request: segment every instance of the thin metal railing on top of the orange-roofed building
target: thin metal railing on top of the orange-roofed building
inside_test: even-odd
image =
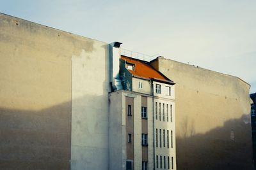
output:
[[[145,60],[147,62],[150,62],[151,60],[154,60],[157,57],[159,57],[159,54],[147,55],[145,53],[132,52],[131,50],[125,50],[124,48],[121,48],[121,55],[125,55],[125,56],[131,57],[133,59]]]

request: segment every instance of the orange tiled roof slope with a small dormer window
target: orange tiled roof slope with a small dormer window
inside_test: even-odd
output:
[[[156,71],[156,69],[154,69],[152,66],[150,66],[146,62],[143,62],[138,59],[132,59],[132,58],[126,57],[124,55],[121,55],[121,59],[126,60],[126,62],[135,65],[134,71],[128,69],[128,71],[134,76],[138,76],[141,78],[147,78],[147,79],[154,78],[156,80],[162,80],[162,81],[172,81],[172,80],[169,80],[168,78],[164,77],[161,73]]]

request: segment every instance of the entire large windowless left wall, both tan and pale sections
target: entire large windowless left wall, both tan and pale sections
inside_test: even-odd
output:
[[[108,85],[106,43],[0,13],[0,169],[108,169]]]

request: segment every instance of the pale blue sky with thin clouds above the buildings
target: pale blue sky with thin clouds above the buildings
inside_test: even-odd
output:
[[[0,12],[238,76],[256,92],[255,0],[0,0]]]

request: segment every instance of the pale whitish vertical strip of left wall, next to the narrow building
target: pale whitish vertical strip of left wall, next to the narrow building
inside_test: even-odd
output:
[[[78,40],[80,51],[72,54],[71,169],[108,169],[109,45]]]

